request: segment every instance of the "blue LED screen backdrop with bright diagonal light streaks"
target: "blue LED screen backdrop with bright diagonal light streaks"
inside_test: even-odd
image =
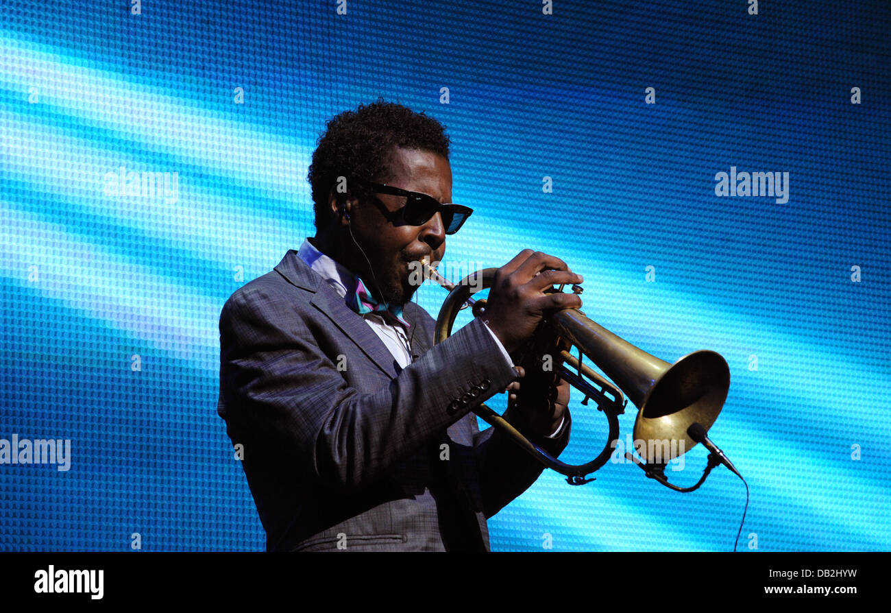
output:
[[[219,311],[314,233],[315,139],[379,96],[452,137],[476,213],[446,262],[547,251],[609,330],[727,359],[711,435],[751,488],[741,551],[891,549],[891,9],[759,4],[5,2],[0,438],[72,451],[68,471],[0,465],[0,549],[264,548],[216,413]],[[717,197],[732,166],[788,172],[788,202]],[[110,193],[120,167],[176,193]],[[435,314],[444,292],[418,298]],[[571,410],[561,457],[586,462],[605,420]],[[728,470],[693,494],[595,476],[546,471],[490,521],[493,550],[732,550]]]

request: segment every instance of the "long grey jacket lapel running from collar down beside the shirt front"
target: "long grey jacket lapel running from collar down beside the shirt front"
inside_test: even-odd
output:
[[[396,377],[395,361],[387,346],[372,331],[368,323],[347,307],[343,298],[300,259],[296,250],[290,249],[278,266],[275,266],[275,270],[292,285],[314,292],[312,305],[356,343],[356,347],[381,371],[386,372],[390,378]]]

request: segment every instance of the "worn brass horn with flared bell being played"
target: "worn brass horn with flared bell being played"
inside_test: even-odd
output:
[[[471,294],[492,287],[495,268],[479,270],[453,285],[429,266],[429,262],[423,262],[422,266],[426,278],[449,290],[437,317],[437,343],[452,333],[455,318],[462,308],[471,307],[474,316],[485,314],[485,298],[475,299]],[[563,286],[556,290],[562,291]],[[573,286],[572,290],[582,292],[579,286]],[[730,368],[720,354],[695,351],[669,364],[594,323],[576,308],[546,317],[536,331],[537,337],[543,335],[544,342],[551,343],[548,346],[555,347],[560,356],[560,376],[582,392],[583,405],[594,400],[608,420],[609,438],[601,453],[584,464],[560,462],[485,404],[478,405],[474,413],[493,428],[501,429],[544,466],[560,472],[570,485],[582,485],[592,481],[593,478],[587,478],[587,475],[599,470],[615,453],[619,437],[618,415],[625,413],[625,406],[631,400],[638,408],[634,439],[638,442],[635,450],[640,459],[630,453],[625,457],[640,466],[647,477],[676,491],[690,492],[702,485],[708,473],[720,463],[716,454],[709,454],[707,468],[699,483],[692,487],[669,483],[665,466],[666,462],[702,440],[697,436],[697,431],[701,430],[697,430],[695,424],[707,430],[721,413],[730,389]],[[570,351],[573,347],[577,356]],[[599,367],[609,380],[584,364],[584,358]]]

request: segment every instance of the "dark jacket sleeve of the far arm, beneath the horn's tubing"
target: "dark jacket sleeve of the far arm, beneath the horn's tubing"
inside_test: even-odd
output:
[[[568,410],[565,415],[560,436],[556,438],[530,435],[522,416],[512,413],[511,409],[504,412],[503,418],[535,445],[557,457],[569,442],[572,419]],[[544,470],[544,464],[522,450],[502,429],[489,428],[479,432],[476,420],[472,422],[473,428],[477,430],[473,437],[473,446],[483,500],[482,511],[486,519],[489,519],[535,483],[535,479]]]

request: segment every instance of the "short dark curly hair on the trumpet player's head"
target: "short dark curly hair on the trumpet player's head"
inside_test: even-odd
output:
[[[307,181],[312,185],[315,227],[322,229],[337,218],[329,206],[331,188],[339,176],[349,192],[361,193],[369,181],[386,183],[392,176],[390,155],[396,147],[432,151],[448,159],[446,127],[421,111],[378,98],[334,116],[313,152]]]

